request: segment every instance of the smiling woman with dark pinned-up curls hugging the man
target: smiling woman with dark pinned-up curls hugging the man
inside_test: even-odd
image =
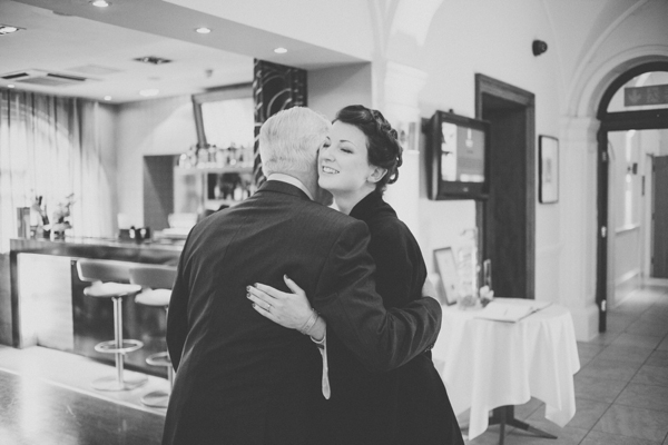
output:
[[[428,275],[418,241],[383,200],[401,164],[396,131],[380,111],[358,105],[338,111],[331,145],[318,157],[320,186],[333,195],[340,211],[369,227],[376,291],[387,308],[420,298]],[[267,318],[298,328],[302,322],[294,323],[294,314],[311,307],[298,286],[288,278],[286,285],[302,298],[289,299],[288,294],[264,285],[252,287],[249,298]],[[284,301],[277,305],[276,299]],[[272,301],[271,316],[262,301]],[[323,444],[463,444],[430,352],[394,370],[374,374],[327,329],[326,355],[331,398],[323,418]]]

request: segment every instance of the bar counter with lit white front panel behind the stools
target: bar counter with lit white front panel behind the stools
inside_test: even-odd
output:
[[[112,355],[94,349],[95,344],[114,339],[111,301],[84,295],[90,284],[79,279],[77,260],[92,258],[176,267],[181,250],[183,241],[11,239],[12,346],[39,345],[112,364]],[[124,337],[144,342],[141,349],[127,355],[127,367],[165,376],[165,368],[145,363],[148,355],[166,349],[165,312],[136,305],[130,297],[124,299],[122,315]]]

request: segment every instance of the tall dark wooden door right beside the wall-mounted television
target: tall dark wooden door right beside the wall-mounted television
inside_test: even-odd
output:
[[[536,155],[533,95],[477,75],[477,117],[490,122],[490,192],[479,201],[481,258],[492,264],[494,296],[533,299]]]

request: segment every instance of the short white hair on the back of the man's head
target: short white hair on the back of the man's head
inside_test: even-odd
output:
[[[265,176],[314,168],[316,148],[332,123],[322,115],[293,107],[268,118],[259,129],[259,156]]]

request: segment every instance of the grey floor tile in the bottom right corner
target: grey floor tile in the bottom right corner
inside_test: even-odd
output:
[[[593,429],[660,442],[668,434],[668,413],[612,405]]]

